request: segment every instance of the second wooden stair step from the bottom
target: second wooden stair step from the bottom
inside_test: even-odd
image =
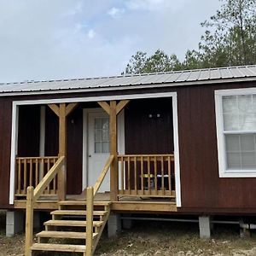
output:
[[[70,232],[70,231],[42,231],[38,233],[38,237],[48,238],[71,238],[71,239],[85,239],[85,232]],[[93,233],[93,238],[97,236],[97,233]]]

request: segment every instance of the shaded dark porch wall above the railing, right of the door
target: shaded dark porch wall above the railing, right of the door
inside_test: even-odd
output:
[[[131,101],[125,108],[125,154],[172,154],[172,127],[172,98]]]

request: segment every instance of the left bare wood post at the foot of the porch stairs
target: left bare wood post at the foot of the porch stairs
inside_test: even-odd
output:
[[[25,238],[25,255],[32,255],[31,247],[33,241],[33,200],[34,188],[26,189],[26,238]]]

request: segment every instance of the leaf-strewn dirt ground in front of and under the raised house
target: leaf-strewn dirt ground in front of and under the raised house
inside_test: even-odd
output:
[[[5,213],[0,212],[0,255],[23,255],[24,234],[5,237]],[[108,239],[104,233],[96,255],[256,255],[256,232],[249,238],[240,238],[237,226],[215,225],[212,239],[199,238],[198,224],[134,222],[131,230],[122,231],[118,237]],[[41,255],[71,255],[67,253],[42,253]],[[79,254],[78,254],[79,255]]]

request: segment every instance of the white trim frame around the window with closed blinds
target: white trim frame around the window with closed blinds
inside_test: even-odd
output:
[[[215,114],[218,145],[218,174],[219,177],[256,177],[255,170],[226,170],[226,154],[224,144],[223,96],[240,96],[256,94],[256,88],[215,90]],[[238,131],[239,132],[239,131]],[[228,132],[226,132],[228,133]],[[245,131],[244,133],[248,133]],[[252,133],[252,131],[250,132]]]

